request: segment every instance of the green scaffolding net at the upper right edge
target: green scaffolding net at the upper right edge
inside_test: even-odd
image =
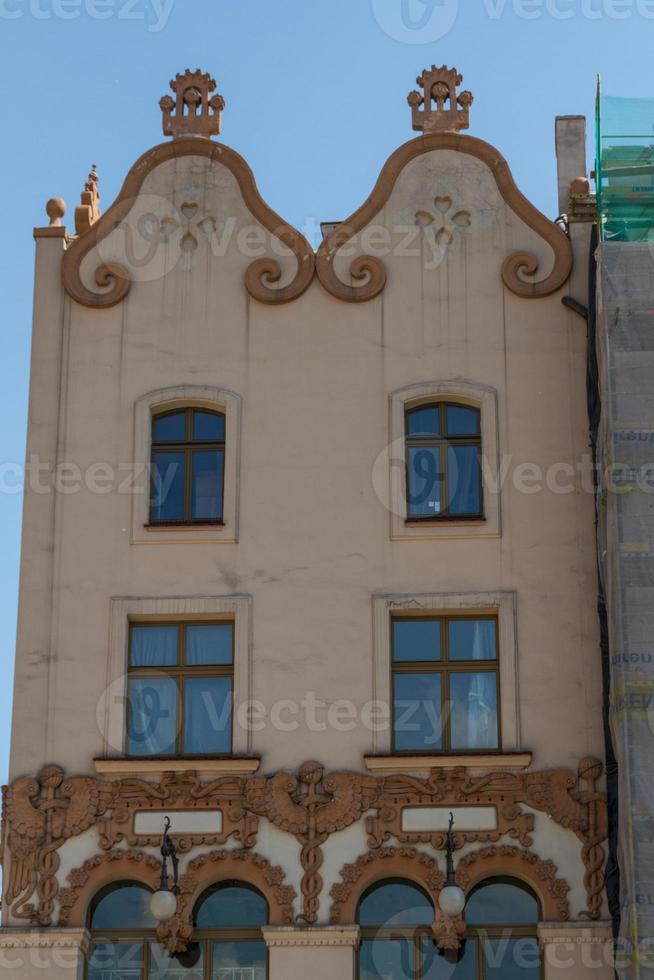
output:
[[[597,90],[597,206],[603,241],[654,241],[654,99]]]

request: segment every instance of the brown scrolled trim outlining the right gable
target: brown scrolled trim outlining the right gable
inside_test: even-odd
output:
[[[397,149],[388,159],[365,204],[335,228],[318,249],[316,271],[325,289],[332,296],[348,303],[365,302],[382,292],[386,285],[386,269],[380,259],[370,255],[359,255],[354,259],[350,266],[350,275],[354,280],[352,285],[338,278],[334,271],[334,259],[339,249],[369,224],[386,205],[398,177],[407,164],[432,150],[455,150],[458,153],[467,153],[485,163],[491,170],[498,190],[509,207],[540,235],[554,252],[552,271],[545,279],[538,282],[523,278],[534,276],[538,272],[538,260],[535,255],[530,252],[514,252],[509,255],[502,265],[502,279],[505,286],[516,296],[524,299],[538,299],[560,289],[572,270],[572,248],[567,237],[518,190],[509,165],[494,147],[473,136],[460,136],[454,133],[422,136],[411,140]]]

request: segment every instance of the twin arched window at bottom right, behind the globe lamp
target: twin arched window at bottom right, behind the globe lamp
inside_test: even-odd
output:
[[[483,882],[468,898],[461,961],[433,939],[434,909],[416,885],[382,882],[359,904],[358,980],[540,980],[538,901],[521,882]]]

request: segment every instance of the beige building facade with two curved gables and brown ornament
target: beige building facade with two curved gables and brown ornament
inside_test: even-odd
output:
[[[106,213],[95,172],[74,234],[48,203],[4,793],[21,980],[613,976],[592,221],[461,134],[461,81],[420,76],[420,135],[317,251],[215,139],[199,71]],[[557,121],[562,211],[584,139]]]

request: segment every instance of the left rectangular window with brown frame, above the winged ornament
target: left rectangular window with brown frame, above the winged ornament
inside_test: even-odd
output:
[[[234,624],[132,623],[127,751],[229,755]]]

